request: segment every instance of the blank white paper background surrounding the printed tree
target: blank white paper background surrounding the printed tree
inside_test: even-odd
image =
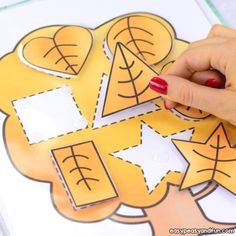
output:
[[[80,24],[94,28],[115,16],[137,11],[165,17],[173,24],[177,36],[187,41],[205,37],[211,27],[205,13],[194,0],[182,0],[181,4],[173,0],[136,0],[135,3],[127,0],[44,0],[0,13],[0,57],[13,50],[24,35],[36,28],[53,24]],[[4,118],[1,114],[1,128]],[[105,220],[82,224],[63,218],[52,205],[49,185],[29,180],[16,171],[2,139],[0,157],[0,189],[13,235],[110,236],[111,232],[112,236],[152,235],[147,223],[124,225]],[[220,211],[216,212],[215,204],[220,204]],[[235,211],[228,212],[230,206],[235,206],[235,197],[226,193],[226,190],[218,189],[217,193],[204,199],[202,206],[211,218],[217,213],[217,220],[236,219]]]

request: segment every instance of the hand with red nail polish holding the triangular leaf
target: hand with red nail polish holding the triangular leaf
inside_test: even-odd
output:
[[[163,94],[167,109],[180,103],[236,125],[236,30],[215,25],[150,87]]]

